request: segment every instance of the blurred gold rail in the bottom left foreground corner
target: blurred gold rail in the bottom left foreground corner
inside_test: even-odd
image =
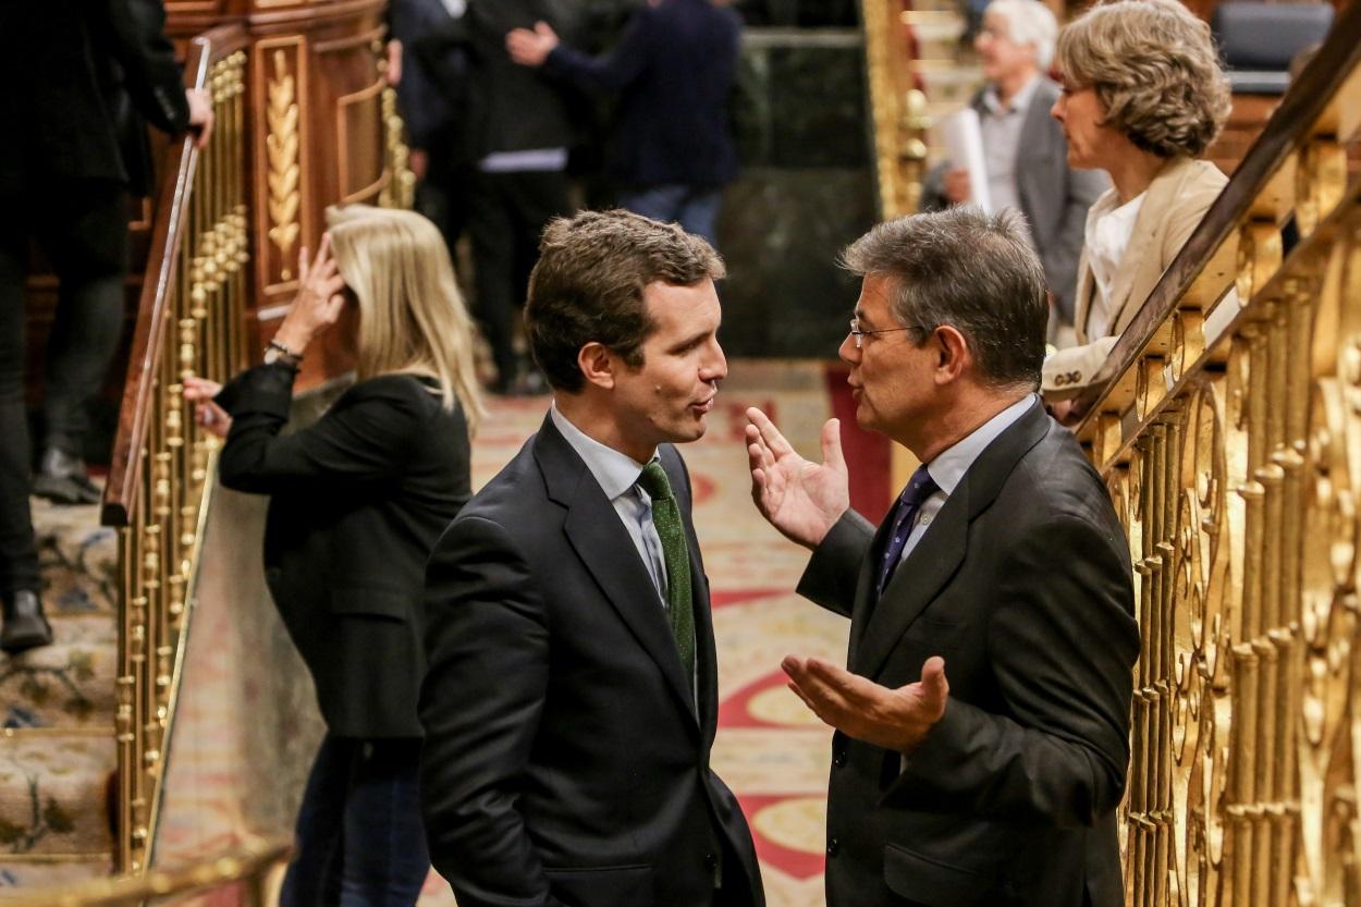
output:
[[[233,903],[248,907],[269,904],[268,887],[275,870],[289,859],[291,842],[259,842],[210,862],[173,872],[99,878],[34,895],[5,899],[5,907],[142,907],[146,903],[180,903],[197,892],[242,885],[245,897]]]

